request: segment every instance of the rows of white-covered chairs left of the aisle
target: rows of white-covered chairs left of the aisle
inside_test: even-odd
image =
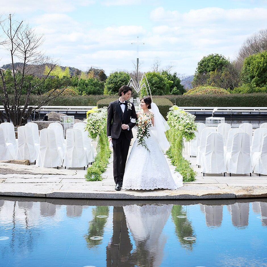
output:
[[[40,131],[36,123],[18,127],[18,139],[14,126],[0,124],[0,159],[29,159],[42,167],[82,167],[94,161],[94,147],[85,124],[76,123],[74,129],[66,131],[64,139],[62,125],[53,122]]]

